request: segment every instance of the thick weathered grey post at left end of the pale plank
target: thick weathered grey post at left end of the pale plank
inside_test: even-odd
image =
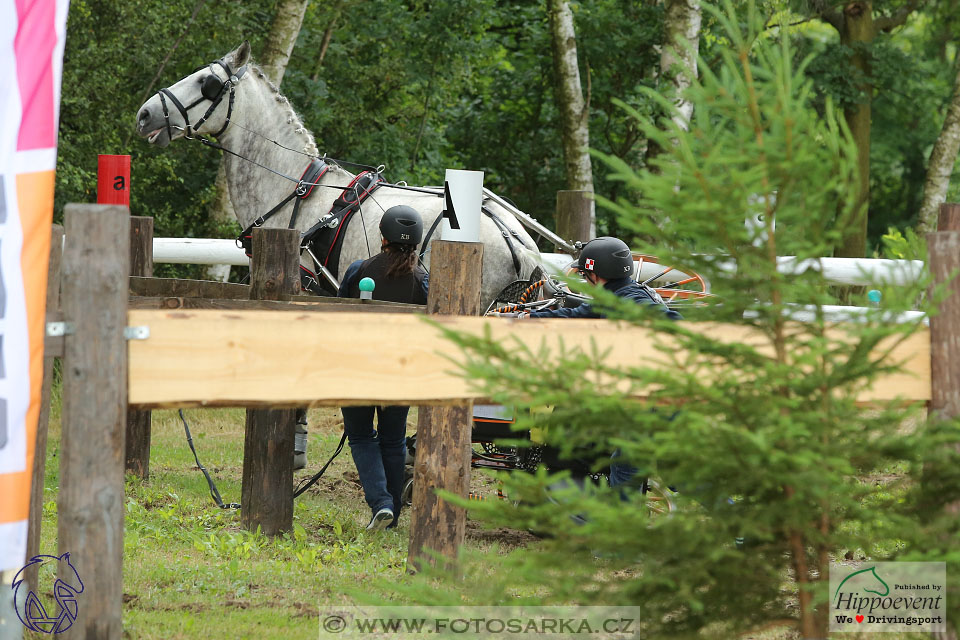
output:
[[[84,591],[64,636],[119,640],[130,213],[119,205],[68,204],[65,223],[63,315],[74,332],[64,341],[58,536],[59,553],[70,554]]]

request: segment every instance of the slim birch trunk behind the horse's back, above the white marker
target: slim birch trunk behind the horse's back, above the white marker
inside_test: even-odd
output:
[[[567,189],[593,192],[590,164],[590,108],[580,87],[577,36],[567,0],[548,0],[550,40],[553,48],[554,93],[560,110],[563,164]],[[597,234],[596,210],[591,201],[590,236]]]

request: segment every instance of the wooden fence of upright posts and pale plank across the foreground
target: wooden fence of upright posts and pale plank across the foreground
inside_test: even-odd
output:
[[[960,220],[954,209],[944,211],[942,220]],[[489,330],[497,339],[527,345],[562,343],[568,350],[593,343],[601,350],[615,347],[611,365],[649,363],[658,353],[652,345],[660,338],[610,321],[516,322],[448,315],[431,324],[411,315],[410,306],[298,296],[295,232],[288,230],[255,232],[258,262],[249,287],[161,283],[148,277],[143,249],[150,246],[148,225],[133,221],[131,254],[131,218],[125,207],[68,205],[71,242],[62,263],[62,314],[55,295],[49,304],[49,318],[65,321],[66,333],[48,342],[48,355],[64,358],[59,545],[61,552],[72,553],[75,566],[84,568],[87,587],[68,637],[121,637],[123,473],[125,466],[142,475],[149,469],[149,426],[129,426],[138,412],[142,421],[143,412],[157,407],[248,407],[243,522],[277,532],[289,528],[292,513],[293,412],[284,408],[450,407],[437,411],[430,437],[453,445],[447,449],[463,456],[421,456],[418,451],[415,486],[419,481],[422,493],[421,502],[415,502],[418,519],[411,523],[411,545],[455,553],[462,540],[462,512],[440,517],[436,505],[423,501],[434,487],[466,491],[469,407],[480,393],[455,372],[463,356],[442,337],[440,326],[476,334]],[[960,267],[960,226],[948,228],[929,238],[931,270],[940,281]],[[458,287],[479,289],[478,283],[463,284],[479,277],[478,269],[471,276],[470,268],[463,268],[479,264],[478,256],[468,255],[471,250],[448,248],[449,256],[437,260],[434,248],[430,311],[476,313],[471,301],[451,293]],[[52,286],[56,263],[51,260]],[[131,265],[140,276],[128,278]],[[960,413],[960,341],[951,339],[960,335],[960,285],[954,280],[951,287],[954,295],[930,330],[920,330],[898,347],[895,357],[906,363],[903,373],[881,377],[859,400],[899,397]],[[696,326],[732,342],[762,343],[742,327]],[[319,376],[324,363],[331,374]],[[261,411],[269,413],[257,413]],[[38,428],[33,487],[41,496],[45,438],[44,421]],[[259,488],[248,490],[248,484]],[[431,511],[430,526],[417,510]],[[31,511],[34,546],[29,553],[37,552],[39,522],[38,507]]]

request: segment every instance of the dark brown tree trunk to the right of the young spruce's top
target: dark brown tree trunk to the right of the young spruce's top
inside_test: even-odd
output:
[[[851,47],[850,64],[862,74],[863,83],[858,87],[863,93],[863,102],[844,110],[844,119],[850,135],[857,145],[857,168],[860,187],[851,218],[845,221],[846,229],[836,249],[841,258],[862,258],[867,249],[867,212],[870,208],[870,102],[873,85],[870,82],[870,60],[867,47],[873,42],[877,31],[873,23],[873,6],[869,0],[849,2],[843,9],[843,24],[840,43]]]

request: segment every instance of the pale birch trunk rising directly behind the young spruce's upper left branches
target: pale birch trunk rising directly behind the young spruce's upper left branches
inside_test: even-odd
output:
[[[674,123],[686,130],[693,117],[693,103],[683,97],[697,77],[700,49],[700,0],[666,0],[663,45],[660,49],[661,87],[669,91],[678,114]]]

